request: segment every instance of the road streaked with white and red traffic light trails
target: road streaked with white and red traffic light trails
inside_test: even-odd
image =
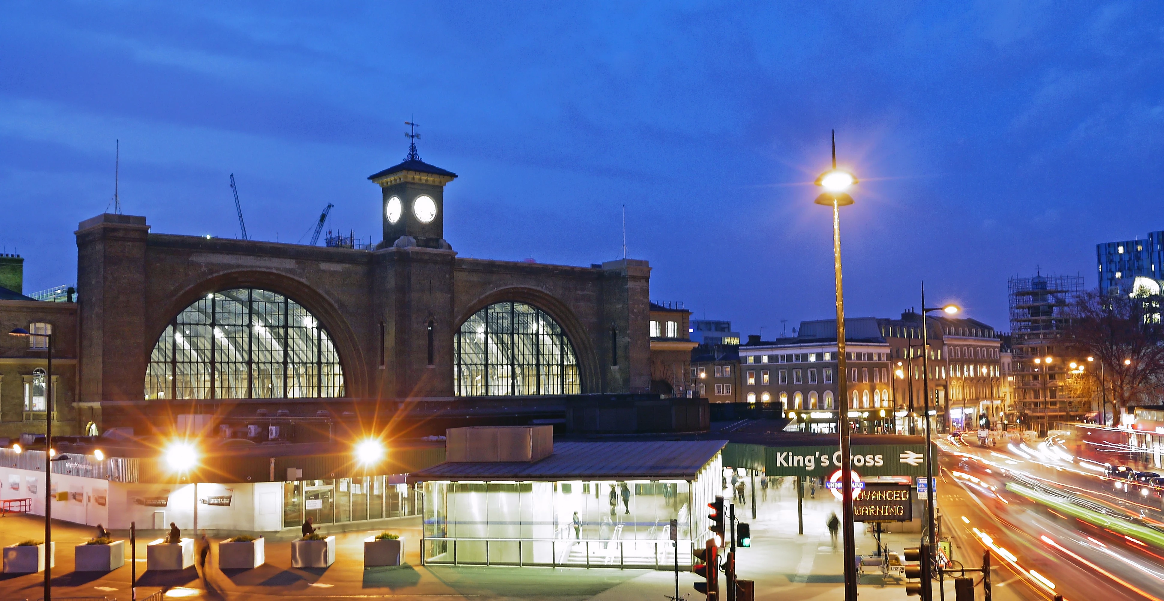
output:
[[[1124,531],[1164,526],[1152,503],[1158,500],[1117,493],[1100,466],[1053,445],[981,447],[965,440],[938,444],[941,535],[964,550],[991,547],[1001,564],[995,586],[1003,582],[1022,599],[1164,601],[1164,549]],[[1065,504],[1049,507],[1018,493]]]

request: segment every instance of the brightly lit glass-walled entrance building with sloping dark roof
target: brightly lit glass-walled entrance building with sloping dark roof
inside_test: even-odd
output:
[[[421,561],[450,565],[691,565],[710,537],[723,440],[558,443],[531,462],[447,461],[424,490]],[[677,557],[670,521],[677,532]]]

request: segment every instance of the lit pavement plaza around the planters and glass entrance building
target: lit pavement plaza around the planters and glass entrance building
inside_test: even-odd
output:
[[[737,515],[752,524],[752,546],[737,553],[739,578],[755,581],[758,600],[840,599],[843,585],[842,552],[833,547],[825,522],[840,503],[830,493],[818,490],[816,499],[804,501],[804,533],[797,533],[796,499],[790,479],[783,487],[768,492],[760,501],[757,518],[751,505],[737,507]],[[725,495],[728,496],[728,495]],[[758,495],[759,496],[759,495]],[[0,545],[28,538],[42,538],[43,521],[37,517],[9,516],[0,519]],[[675,594],[676,574],[669,571],[617,568],[548,568],[548,567],[470,567],[421,566],[419,561],[419,517],[399,518],[388,531],[405,539],[405,566],[364,570],[361,560],[363,539],[375,531],[335,533],[336,561],[328,568],[291,567],[290,542],[268,540],[267,564],[255,570],[223,572],[214,567],[211,554],[205,571],[190,568],[176,573],[144,572],[146,543],[157,538],[142,532],[137,542],[137,599],[163,592],[166,599],[561,599],[624,601],[658,599]],[[326,528],[325,533],[328,533]],[[40,536],[38,536],[40,535]],[[126,538],[127,532],[114,532]],[[97,598],[128,600],[129,561],[111,573],[73,571],[71,546],[93,536],[88,526],[54,522],[57,563],[54,568],[54,596],[63,599]],[[914,546],[917,533],[886,533],[882,540],[890,550]],[[870,530],[858,524],[858,554],[871,554],[875,542]],[[217,543],[217,539],[214,540]],[[954,550],[956,557],[960,551]],[[967,557],[981,550],[971,549]],[[128,554],[128,553],[127,553]],[[966,560],[967,564],[972,563]],[[691,587],[695,575],[677,574],[681,598],[700,598]],[[43,573],[3,574],[0,598],[10,600],[41,599]],[[721,589],[723,579],[721,577]],[[906,598],[902,582],[883,581],[879,575],[864,577],[859,585],[863,601]],[[947,594],[953,599],[952,584]],[[999,598],[999,595],[995,595]],[[1002,596],[1001,599],[1007,599]]]

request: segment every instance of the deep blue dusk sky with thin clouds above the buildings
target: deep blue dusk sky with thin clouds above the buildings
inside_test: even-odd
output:
[[[934,302],[1008,330],[1008,275],[1081,274],[1164,229],[1157,2],[8,3],[0,246],[76,278],[77,222],[379,235],[365,178],[460,175],[464,256],[648,260],[652,297],[765,338],[832,314],[837,129],[850,316]],[[305,235],[306,234],[306,235]]]

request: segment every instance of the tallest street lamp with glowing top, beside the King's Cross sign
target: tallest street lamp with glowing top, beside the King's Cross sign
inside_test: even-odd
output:
[[[853,204],[853,197],[845,191],[857,184],[857,177],[849,171],[837,169],[837,134],[832,134],[832,169],[816,178],[816,185],[825,191],[816,197],[815,203],[832,207],[832,270],[837,294],[837,430],[840,432],[840,508],[844,515],[844,561],[845,561],[845,601],[857,601],[857,545],[853,538],[853,466],[849,446],[849,368],[845,361],[845,297],[840,278],[840,207]]]

